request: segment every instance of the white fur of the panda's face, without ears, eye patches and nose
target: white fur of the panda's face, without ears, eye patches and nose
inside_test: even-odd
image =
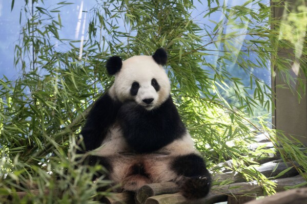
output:
[[[155,78],[160,85],[160,90],[156,92],[151,85],[151,80]],[[131,96],[130,88],[133,82],[139,83],[136,96]],[[153,109],[160,106],[170,94],[170,81],[161,65],[158,65],[152,56],[133,56],[122,62],[122,67],[115,74],[114,92],[119,101],[125,102],[133,100],[140,105],[146,106],[143,99],[153,98],[152,106],[146,107]],[[113,90],[114,89],[114,90]]]

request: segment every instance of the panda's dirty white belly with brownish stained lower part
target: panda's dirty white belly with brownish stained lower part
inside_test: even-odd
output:
[[[97,155],[108,157],[111,162],[109,178],[124,191],[137,191],[146,184],[181,180],[182,176],[172,170],[173,161],[177,156],[196,153],[189,133],[156,152],[135,153],[128,147],[118,126],[112,128],[98,149]]]

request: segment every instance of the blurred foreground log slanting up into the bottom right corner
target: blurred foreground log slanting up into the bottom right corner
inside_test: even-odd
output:
[[[245,204],[307,204],[307,188],[292,189]]]

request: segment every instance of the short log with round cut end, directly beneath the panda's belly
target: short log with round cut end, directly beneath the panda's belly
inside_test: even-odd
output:
[[[141,187],[135,194],[136,203],[145,203],[147,198],[161,195],[177,193],[179,191],[178,185],[173,182],[148,184]]]

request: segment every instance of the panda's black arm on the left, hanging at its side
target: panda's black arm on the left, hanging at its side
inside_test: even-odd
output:
[[[86,151],[96,149],[101,145],[108,129],[116,120],[120,105],[119,101],[112,100],[109,93],[105,93],[96,101],[80,132],[84,138]]]

